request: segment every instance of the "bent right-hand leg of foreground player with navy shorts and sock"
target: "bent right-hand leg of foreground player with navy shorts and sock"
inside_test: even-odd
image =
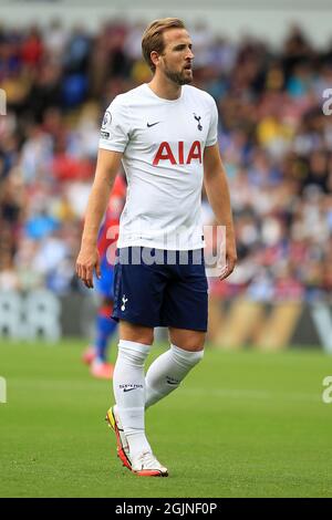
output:
[[[168,325],[170,347],[149,366],[146,378],[148,408],[175,391],[204,355],[207,330],[207,280],[204,258],[174,268],[175,282],[165,293],[163,318]]]

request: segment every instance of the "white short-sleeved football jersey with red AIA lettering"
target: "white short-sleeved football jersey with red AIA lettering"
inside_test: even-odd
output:
[[[158,97],[147,84],[114,98],[100,147],[123,153],[128,185],[118,248],[204,247],[203,154],[217,143],[217,125],[215,100],[194,86],[184,85],[174,101]]]

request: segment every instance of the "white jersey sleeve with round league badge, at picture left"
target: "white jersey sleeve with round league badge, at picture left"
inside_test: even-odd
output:
[[[100,148],[124,152],[129,138],[127,106],[115,97],[105,112],[100,138]]]

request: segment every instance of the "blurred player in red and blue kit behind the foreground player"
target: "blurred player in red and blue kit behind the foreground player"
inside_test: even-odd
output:
[[[90,365],[94,377],[110,379],[114,366],[107,362],[107,346],[116,331],[117,324],[112,320],[113,312],[113,277],[115,246],[118,237],[118,220],[124,206],[126,184],[122,175],[117,175],[104,222],[101,227],[97,249],[101,259],[101,278],[95,277],[95,290],[101,300],[95,322],[94,344],[83,353],[83,362]]]

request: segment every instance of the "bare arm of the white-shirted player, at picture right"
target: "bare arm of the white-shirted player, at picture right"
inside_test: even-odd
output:
[[[217,223],[226,227],[227,266],[220,275],[222,280],[234,271],[237,250],[228,183],[217,143],[214,146],[207,146],[204,150],[204,184]]]

